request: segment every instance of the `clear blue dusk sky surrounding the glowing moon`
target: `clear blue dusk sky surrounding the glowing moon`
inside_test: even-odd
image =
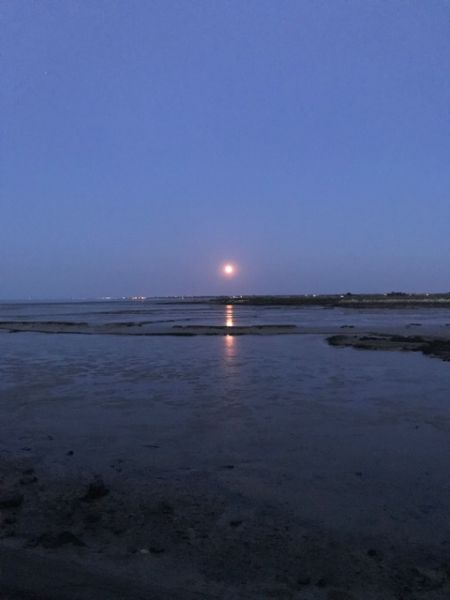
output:
[[[2,0],[0,298],[449,291],[449,27],[448,0]]]

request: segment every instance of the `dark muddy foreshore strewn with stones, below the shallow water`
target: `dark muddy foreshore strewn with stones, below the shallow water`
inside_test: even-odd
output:
[[[344,535],[233,490],[238,470],[53,479],[32,458],[2,458],[1,597],[449,597],[447,539]]]

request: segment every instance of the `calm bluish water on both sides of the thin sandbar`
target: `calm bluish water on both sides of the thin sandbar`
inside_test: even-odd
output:
[[[0,318],[192,324],[450,322],[444,310],[9,304]],[[450,503],[450,365],[323,336],[0,334],[0,450],[49,472],[216,473],[327,526],[440,539]],[[51,441],[49,441],[49,436]],[[149,452],[149,446],[157,447]],[[73,459],[66,451],[75,449]],[[357,473],[358,475],[355,475]],[[362,474],[362,475],[361,475]],[[301,501],[300,501],[301,499]],[[299,508],[300,507],[300,508]],[[432,507],[432,510],[424,507]]]

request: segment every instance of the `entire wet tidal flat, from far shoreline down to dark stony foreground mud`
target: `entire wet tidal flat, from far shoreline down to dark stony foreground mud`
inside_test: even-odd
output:
[[[5,308],[4,597],[447,598],[448,363],[352,346],[450,318],[387,312]]]

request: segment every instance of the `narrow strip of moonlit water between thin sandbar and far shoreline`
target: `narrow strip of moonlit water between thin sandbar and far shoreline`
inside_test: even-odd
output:
[[[389,326],[450,324],[448,309],[328,309],[319,307],[254,307],[181,303],[170,300],[0,303],[0,320],[83,321],[90,324],[154,322],[192,325]]]

